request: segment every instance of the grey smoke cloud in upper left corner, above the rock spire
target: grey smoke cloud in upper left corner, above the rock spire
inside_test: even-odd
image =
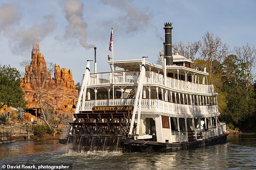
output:
[[[31,49],[32,40],[35,37],[42,40],[56,27],[54,18],[47,15],[44,16],[44,22],[34,24],[28,29],[22,28],[19,25],[22,18],[20,8],[18,4],[2,4],[0,7],[0,29],[8,39],[9,47],[15,55],[23,55]]]

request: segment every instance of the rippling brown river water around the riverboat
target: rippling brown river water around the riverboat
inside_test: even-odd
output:
[[[0,164],[73,164],[73,170],[256,169],[256,131],[229,135],[228,142],[169,153],[65,153],[58,140],[0,145]]]

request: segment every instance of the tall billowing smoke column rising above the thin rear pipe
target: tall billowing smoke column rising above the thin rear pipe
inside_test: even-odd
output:
[[[87,23],[84,22],[84,4],[79,0],[67,0],[64,6],[65,18],[68,25],[65,28],[63,37],[55,37],[57,40],[78,39],[80,45],[86,49],[93,48],[94,45],[88,44],[87,39]]]

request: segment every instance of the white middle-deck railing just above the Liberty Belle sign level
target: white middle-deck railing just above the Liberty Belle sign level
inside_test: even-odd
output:
[[[118,98],[105,100],[87,100],[85,101],[84,109],[91,111],[94,106],[127,106],[134,105],[134,98]],[[82,110],[80,104],[79,110]],[[147,113],[162,113],[164,115],[184,117],[184,116],[209,116],[218,115],[218,105],[189,105],[171,103],[159,99],[142,99],[141,111]]]

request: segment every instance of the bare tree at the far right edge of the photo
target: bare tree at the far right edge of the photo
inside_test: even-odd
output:
[[[256,48],[255,46],[243,45],[241,47],[235,46],[234,51],[237,55],[237,58],[241,62],[240,64],[243,66],[243,74],[242,79],[244,82],[244,86],[248,91],[249,86],[254,83],[254,79],[256,77],[255,74],[255,63],[256,63]]]

